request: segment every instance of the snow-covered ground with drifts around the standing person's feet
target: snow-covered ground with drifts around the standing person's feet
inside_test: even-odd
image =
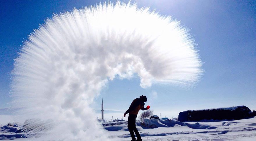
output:
[[[244,120],[220,122],[177,122],[173,120],[145,120],[144,124],[137,122],[138,130],[144,141],[254,141],[256,140],[256,117]],[[127,124],[102,127],[110,138],[116,140],[131,140]],[[5,133],[4,133],[5,132]],[[6,133],[0,130],[0,140],[4,136],[15,137],[23,133]],[[19,138],[17,141],[34,140],[34,138]]]

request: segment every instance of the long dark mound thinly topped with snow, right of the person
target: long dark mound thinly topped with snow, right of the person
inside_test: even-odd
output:
[[[179,113],[179,121],[219,121],[219,120],[239,120],[253,118],[255,111],[251,111],[246,106],[236,106],[228,108],[189,110]]]

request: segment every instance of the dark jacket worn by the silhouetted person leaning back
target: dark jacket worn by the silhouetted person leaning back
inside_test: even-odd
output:
[[[141,110],[146,110],[147,108],[144,108],[145,103],[143,102],[142,99],[136,98],[131,102],[131,106],[129,109],[126,111],[126,113],[132,114],[132,115],[137,115],[138,112]]]

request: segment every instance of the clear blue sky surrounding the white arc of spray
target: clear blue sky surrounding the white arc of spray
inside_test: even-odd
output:
[[[114,1],[113,1],[114,2]],[[0,2],[0,108],[9,107],[10,71],[22,42],[53,13],[99,3],[99,0],[2,0]],[[127,110],[131,101],[146,95],[156,114],[246,105],[256,110],[256,1],[139,0],[163,15],[173,15],[191,29],[198,43],[205,73],[193,89],[153,85],[139,87],[139,79],[108,84],[93,108]]]

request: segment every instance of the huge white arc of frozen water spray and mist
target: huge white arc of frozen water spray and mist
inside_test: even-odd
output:
[[[117,75],[136,74],[146,88],[192,86],[202,73],[195,41],[179,21],[120,2],[47,19],[14,66],[11,93],[22,116],[52,121],[38,140],[108,140],[90,104]]]

